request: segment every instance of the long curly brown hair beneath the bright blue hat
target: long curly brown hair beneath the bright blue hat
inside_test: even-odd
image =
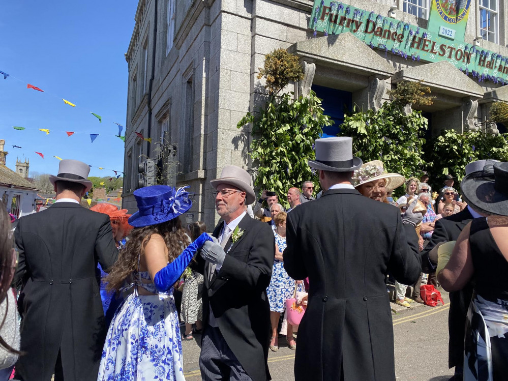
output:
[[[118,260],[105,279],[108,282],[106,286],[108,291],[118,291],[125,279],[139,270],[139,255],[154,234],[159,234],[164,239],[169,250],[168,262],[172,262],[190,244],[189,236],[182,228],[182,223],[178,217],[157,225],[132,229],[125,248],[118,254]]]

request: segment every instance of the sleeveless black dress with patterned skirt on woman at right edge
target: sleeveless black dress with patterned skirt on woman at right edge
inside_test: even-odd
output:
[[[471,222],[469,244],[476,281],[464,340],[464,380],[500,381],[508,377],[508,261],[487,218]]]

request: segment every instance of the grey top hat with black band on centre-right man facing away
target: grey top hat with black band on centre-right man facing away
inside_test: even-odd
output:
[[[309,160],[314,169],[351,172],[362,166],[362,159],[353,156],[353,139],[347,136],[316,139],[316,160]]]

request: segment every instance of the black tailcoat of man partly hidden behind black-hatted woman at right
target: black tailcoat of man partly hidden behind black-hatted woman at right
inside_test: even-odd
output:
[[[466,208],[463,211],[443,217],[436,221],[429,244],[422,251],[424,271],[433,271],[435,266],[429,260],[429,251],[439,242],[456,241],[462,229],[473,219]],[[466,315],[473,295],[473,285],[469,282],[459,291],[450,292],[450,312],[448,313],[448,366],[462,365],[464,361],[464,330]]]

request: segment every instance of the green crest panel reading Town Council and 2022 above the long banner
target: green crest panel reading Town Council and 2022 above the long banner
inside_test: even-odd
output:
[[[431,0],[427,29],[439,36],[464,40],[471,0]]]

